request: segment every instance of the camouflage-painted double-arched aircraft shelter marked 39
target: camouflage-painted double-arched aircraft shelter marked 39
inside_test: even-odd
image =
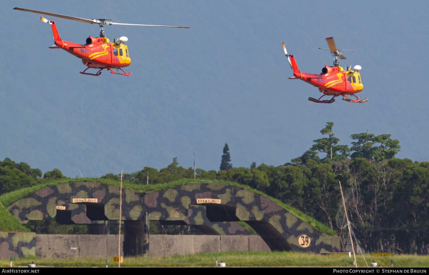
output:
[[[90,234],[105,234],[106,221],[119,220],[120,188],[82,181],[40,189],[10,204],[20,222],[56,219],[88,224]],[[124,254],[148,251],[148,220],[163,225],[192,225],[202,234],[236,234],[244,221],[274,251],[340,251],[339,237],[327,236],[264,195],[224,183],[198,182],[161,191],[122,190]]]

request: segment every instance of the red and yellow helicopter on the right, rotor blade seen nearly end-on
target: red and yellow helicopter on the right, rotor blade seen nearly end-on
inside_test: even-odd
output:
[[[349,67],[347,67],[347,70],[344,70],[340,66],[340,62],[338,60],[338,58],[346,59],[341,54],[342,50],[337,49],[334,38],[328,37],[326,38],[326,41],[328,42],[329,49],[319,49],[331,51],[334,58],[334,65],[330,67],[325,65],[325,67],[322,68],[322,72],[320,74],[310,74],[299,71],[298,65],[296,65],[295,57],[293,57],[292,54],[287,54],[287,50],[283,42],[284,54],[287,56],[290,67],[293,70],[293,77],[289,77],[289,79],[300,79],[319,88],[319,91],[323,94],[319,99],[308,98],[309,101],[316,103],[332,103],[335,101],[335,98],[340,95],[343,96],[343,100],[349,102],[364,103],[368,101],[368,98],[360,99],[360,97],[356,95],[356,93],[363,90],[363,84],[359,73],[362,67],[360,65],[356,65],[353,67],[353,71]],[[332,98],[330,100],[320,100],[325,95],[332,95]],[[350,95],[351,98],[349,98],[347,95]],[[355,96],[356,99],[353,99],[353,96]]]

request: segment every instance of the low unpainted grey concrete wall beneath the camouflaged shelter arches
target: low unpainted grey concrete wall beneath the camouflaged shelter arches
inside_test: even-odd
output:
[[[124,236],[121,236],[121,251]],[[149,256],[161,257],[219,251],[270,251],[259,236],[151,235]],[[121,252],[122,253],[122,252]],[[118,235],[36,234],[36,256],[42,258],[118,255]]]

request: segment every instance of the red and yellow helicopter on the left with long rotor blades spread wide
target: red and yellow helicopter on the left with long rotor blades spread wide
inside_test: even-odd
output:
[[[85,19],[79,17],[73,17],[68,15],[60,15],[51,12],[42,12],[36,11],[33,9],[23,9],[23,8],[14,8],[24,12],[34,12],[42,15],[54,16],[59,18],[65,18],[75,21],[80,21],[89,24],[99,24],[100,25],[100,36],[92,37],[91,35],[86,38],[86,44],[78,44],[70,41],[64,41],[61,39],[60,34],[57,30],[57,25],[54,21],[40,18],[45,23],[51,24],[52,33],[54,34],[54,45],[51,49],[63,49],[67,52],[73,54],[76,57],[82,59],[82,63],[87,66],[81,74],[95,75],[99,76],[101,71],[108,69],[112,74],[121,74],[121,75],[130,75],[126,73],[122,68],[127,67],[131,64],[130,53],[128,52],[128,47],[124,42],[128,41],[128,38],[121,36],[111,43],[109,39],[104,35],[104,26],[106,25],[130,25],[130,26],[150,26],[150,27],[171,27],[171,28],[185,28],[189,27],[178,27],[178,26],[161,26],[161,25],[142,25],[142,24],[124,24],[124,23],[115,23],[110,22],[111,19]],[[89,68],[97,68],[99,71],[95,74],[85,73]],[[113,71],[116,69],[116,72]],[[123,73],[120,73],[121,70]]]

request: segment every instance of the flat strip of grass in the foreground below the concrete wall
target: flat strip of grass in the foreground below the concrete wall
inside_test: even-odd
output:
[[[219,253],[201,253],[185,256],[173,257],[124,257],[124,263],[121,266],[215,266],[215,257],[218,262],[224,261],[227,267],[233,266],[342,266],[353,267],[353,257],[348,256],[322,256],[319,254],[310,254],[302,252],[266,252],[266,251],[233,251]],[[360,267],[366,267],[362,255],[356,256]],[[375,260],[382,267],[390,267],[390,260],[393,259],[394,267],[428,267],[429,257],[415,255],[396,255],[392,257],[372,257],[371,254],[365,254],[368,265]],[[98,267],[106,266],[106,258],[37,258],[24,257],[13,260],[13,266],[26,266],[34,261],[38,266],[55,267],[91,267],[95,264]],[[108,259],[110,267],[118,266],[118,263],[112,263]],[[9,267],[9,260],[0,260],[2,267]]]

